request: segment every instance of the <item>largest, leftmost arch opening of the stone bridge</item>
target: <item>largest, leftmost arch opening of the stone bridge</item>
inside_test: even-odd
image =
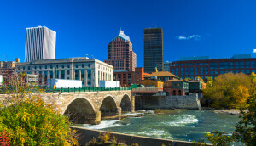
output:
[[[96,110],[87,98],[73,98],[63,113],[73,123],[90,124],[96,119]]]

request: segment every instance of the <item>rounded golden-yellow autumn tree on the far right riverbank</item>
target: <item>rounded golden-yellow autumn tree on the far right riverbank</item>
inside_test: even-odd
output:
[[[209,84],[210,85],[210,84]],[[215,108],[246,108],[246,101],[252,91],[249,76],[239,73],[219,75],[203,91],[204,98],[212,101]]]

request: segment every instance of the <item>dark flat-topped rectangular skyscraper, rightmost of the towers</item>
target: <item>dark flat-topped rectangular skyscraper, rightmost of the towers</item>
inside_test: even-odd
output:
[[[151,73],[164,70],[164,44],[162,28],[144,29],[144,70]]]

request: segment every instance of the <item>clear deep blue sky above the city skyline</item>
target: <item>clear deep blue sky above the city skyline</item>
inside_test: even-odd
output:
[[[137,66],[143,66],[148,27],[163,28],[165,61],[253,54],[255,8],[256,2],[245,0],[1,1],[0,57],[24,61],[26,27],[38,25],[57,32],[56,58],[92,54],[104,61],[120,27],[131,38]]]

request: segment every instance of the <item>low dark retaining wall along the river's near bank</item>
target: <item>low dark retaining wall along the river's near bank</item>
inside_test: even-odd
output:
[[[89,143],[89,141],[93,137],[98,139],[99,135],[101,133],[104,133],[104,131],[90,130],[90,129],[74,127],[74,126],[72,126],[72,128],[76,129],[80,134],[79,145],[82,145],[82,146],[84,146],[86,143]],[[195,145],[195,143],[177,141],[177,140],[169,140],[169,139],[162,139],[162,138],[148,138],[148,137],[142,137],[142,136],[122,134],[117,132],[108,132],[108,133],[111,133],[111,138],[112,139],[115,138],[118,143],[126,143],[128,145],[131,145],[133,143],[137,143],[139,146],[162,146],[162,144],[165,144],[166,146]],[[211,144],[207,144],[207,145],[211,145]]]

